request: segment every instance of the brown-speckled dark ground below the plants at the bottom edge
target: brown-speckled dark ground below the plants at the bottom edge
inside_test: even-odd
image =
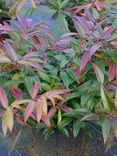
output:
[[[102,136],[96,132],[92,133],[92,138],[80,133],[76,139],[57,132],[47,141],[40,133],[33,136],[25,149],[27,156],[117,156],[117,145],[105,153]]]

